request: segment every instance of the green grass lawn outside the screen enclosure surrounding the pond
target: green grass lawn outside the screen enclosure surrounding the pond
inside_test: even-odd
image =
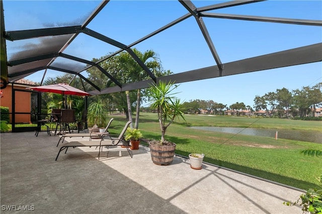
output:
[[[124,115],[112,115],[109,129],[119,133],[126,121]],[[111,117],[112,117],[111,116]],[[176,154],[204,153],[204,161],[245,172],[279,183],[308,189],[317,187],[315,177],[322,175],[322,157],[300,154],[303,150],[320,150],[322,144],[274,137],[260,137],[198,130],[189,126],[230,126],[252,128],[285,128],[320,131],[321,121],[301,121],[277,118],[187,115],[186,120],[171,124],[166,138],[176,142]],[[135,117],[133,117],[134,123]],[[139,129],[144,138],[159,139],[156,114],[140,113]],[[233,136],[233,137],[232,137]],[[232,138],[231,138],[232,137]],[[141,142],[144,144],[144,142]]]

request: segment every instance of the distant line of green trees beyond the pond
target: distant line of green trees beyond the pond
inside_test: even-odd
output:
[[[315,117],[316,109],[322,106],[322,83],[313,87],[302,87],[289,91],[286,88],[277,89],[275,92],[268,92],[263,96],[257,95],[254,98],[254,106],[246,105],[244,102],[236,102],[231,105],[217,103],[213,100],[190,100],[184,103],[187,113],[190,114],[215,114],[225,115],[231,112],[233,115],[248,116],[259,111],[265,111],[268,117],[295,118],[295,117]],[[153,111],[149,107],[145,111]]]

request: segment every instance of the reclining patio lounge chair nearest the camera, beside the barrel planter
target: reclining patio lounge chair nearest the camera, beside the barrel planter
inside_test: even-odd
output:
[[[119,142],[124,140],[125,131],[128,128],[130,123],[131,123],[131,121],[128,121],[125,124],[123,130],[121,131],[120,135],[117,138],[114,138],[114,137],[110,136],[109,139],[102,138],[100,141],[91,140],[91,141],[70,141],[70,142],[67,142],[66,144],[64,144],[64,145],[62,145],[60,147],[55,161],[57,161],[60,152],[65,150],[65,154],[66,154],[67,149],[69,147],[72,147],[72,148],[76,148],[76,147],[90,147],[90,148],[91,147],[99,147],[99,160],[100,160],[100,153],[101,153],[101,150],[103,152],[103,147],[108,148],[109,146],[118,146]],[[119,146],[121,146],[121,145],[119,145]],[[131,154],[131,152],[130,152],[128,147],[126,148],[126,150],[130,154],[131,158],[133,158],[133,156],[132,156],[132,154]]]

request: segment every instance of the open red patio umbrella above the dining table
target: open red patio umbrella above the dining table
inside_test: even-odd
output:
[[[47,85],[47,86],[35,86],[35,87],[27,88],[27,89],[32,89],[32,90],[38,91],[38,92],[50,92],[50,93],[62,94],[63,97],[64,97],[64,95],[92,96],[91,94],[89,94],[87,92],[76,89],[76,88],[69,86],[68,84],[65,84],[65,83],[59,83],[59,84]],[[65,102],[65,105],[66,105],[66,102]],[[65,108],[66,108],[66,106],[65,106]]]

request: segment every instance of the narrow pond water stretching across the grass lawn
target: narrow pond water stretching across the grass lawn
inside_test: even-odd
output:
[[[277,131],[277,137],[282,139],[291,139],[307,142],[317,142],[322,144],[322,131],[303,131],[303,130],[284,130],[284,129],[268,129],[268,128],[235,128],[235,127],[203,127],[192,126],[191,128],[202,129],[208,131],[218,131],[226,133],[238,133],[253,136],[274,137]]]

